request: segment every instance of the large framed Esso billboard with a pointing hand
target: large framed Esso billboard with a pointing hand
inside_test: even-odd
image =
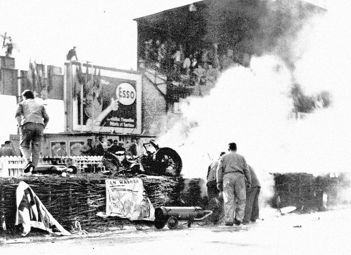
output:
[[[141,133],[141,75],[79,62],[67,63],[66,72],[73,130]]]

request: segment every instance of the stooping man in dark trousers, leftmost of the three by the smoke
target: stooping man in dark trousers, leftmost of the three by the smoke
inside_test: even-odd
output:
[[[223,200],[219,198],[219,190],[217,189],[217,168],[221,159],[221,156],[225,152],[219,154],[219,159],[212,162],[208,166],[207,170],[207,195],[208,195],[208,207],[209,210],[213,211],[213,214],[210,217],[210,220],[214,224],[218,224],[221,218],[223,217]]]

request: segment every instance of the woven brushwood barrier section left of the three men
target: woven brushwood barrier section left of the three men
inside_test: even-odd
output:
[[[184,192],[184,179],[170,176],[136,175],[143,180],[152,205],[181,206],[180,198],[190,197]],[[57,175],[18,176],[0,178],[0,218],[5,215],[7,229],[14,228],[16,215],[16,188],[26,182],[36,193],[46,209],[68,230],[75,221],[81,227],[108,227],[128,222],[126,219],[96,216],[106,210],[105,179],[125,179],[126,176],[81,174],[73,177]],[[199,187],[200,190],[200,187]],[[200,198],[199,198],[200,199]]]

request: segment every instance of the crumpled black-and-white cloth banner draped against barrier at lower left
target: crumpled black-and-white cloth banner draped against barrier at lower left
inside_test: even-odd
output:
[[[71,233],[66,231],[54,217],[52,217],[34,191],[23,181],[20,182],[16,189],[16,204],[17,212],[15,225],[22,223],[23,237],[29,233],[30,227],[40,228],[62,236],[71,235]],[[52,229],[54,227],[56,227],[59,232],[53,232]]]

